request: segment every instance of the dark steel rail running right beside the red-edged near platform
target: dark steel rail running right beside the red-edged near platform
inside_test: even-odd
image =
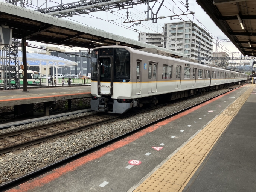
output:
[[[246,84],[247,84],[247,83],[245,83],[244,85],[246,85]],[[243,85],[241,85],[241,86],[243,86]],[[182,110],[180,110],[180,111],[178,111],[178,112],[172,113],[171,115],[167,115],[167,116],[165,116],[165,117],[163,117],[163,118],[157,119],[157,120],[155,120],[155,121],[153,121],[153,122],[150,122],[150,123],[148,123],[148,124],[146,124],[146,125],[142,125],[141,127],[138,127],[138,128],[136,128],[136,129],[134,129],[134,130],[131,130],[130,132],[127,132],[127,133],[124,133],[124,134],[122,134],[122,135],[119,135],[119,136],[117,136],[117,137],[115,137],[115,138],[113,138],[113,139],[110,139],[110,140],[105,141],[105,142],[103,142],[103,143],[101,143],[101,144],[95,145],[94,147],[88,148],[88,149],[86,149],[86,150],[84,150],[84,151],[81,151],[81,152],[79,152],[79,153],[73,154],[73,155],[71,155],[71,156],[69,156],[69,157],[66,157],[66,158],[64,158],[64,159],[62,159],[62,160],[59,160],[59,161],[55,162],[55,163],[52,163],[52,164],[50,164],[50,165],[47,165],[47,166],[45,166],[45,167],[43,167],[43,168],[37,169],[36,171],[30,172],[30,173],[28,173],[28,174],[26,174],[26,175],[23,175],[22,177],[18,177],[18,178],[14,179],[14,180],[8,181],[8,182],[6,182],[6,183],[0,185],[0,188],[1,188],[0,190],[1,190],[1,191],[5,191],[5,190],[11,189],[11,188],[13,188],[13,187],[15,187],[15,186],[18,186],[18,185],[20,185],[20,184],[22,184],[22,183],[25,183],[25,182],[27,182],[27,181],[33,179],[33,178],[36,178],[36,177],[38,177],[38,176],[40,176],[40,175],[45,174],[46,172],[52,171],[53,169],[56,169],[56,168],[58,168],[58,167],[60,167],[60,166],[62,166],[62,165],[65,165],[65,164],[67,164],[67,163],[70,163],[70,162],[72,162],[72,161],[74,161],[74,160],[76,160],[76,159],[79,159],[79,158],[84,157],[84,156],[86,156],[86,155],[88,155],[88,154],[90,154],[90,153],[93,153],[94,151],[97,151],[97,150],[99,150],[99,149],[101,149],[101,148],[103,148],[103,147],[106,147],[106,146],[108,146],[108,145],[111,145],[111,144],[114,143],[114,142],[117,142],[117,141],[119,141],[119,140],[122,140],[122,139],[125,138],[125,137],[128,137],[128,136],[130,136],[130,135],[132,135],[132,134],[134,134],[134,133],[136,133],[136,132],[139,132],[139,131],[142,130],[142,129],[145,129],[145,128],[151,126],[151,125],[156,124],[157,122],[160,122],[160,121],[163,121],[163,120],[165,120],[165,119],[167,119],[167,118],[170,118],[170,117],[172,117],[172,116],[175,116],[175,115],[177,115],[177,114],[179,114],[179,113],[182,113],[182,112],[184,112],[184,111],[186,111],[186,110],[189,110],[189,109],[191,109],[191,108],[193,108],[193,107],[195,107],[195,106],[198,106],[198,105],[200,105],[200,104],[202,104],[202,103],[205,103],[205,102],[207,102],[207,101],[209,101],[209,100],[212,100],[212,99],[215,98],[215,97],[219,97],[220,95],[226,94],[227,92],[230,92],[230,91],[232,91],[232,90],[234,90],[234,89],[237,89],[237,88],[239,88],[239,87],[241,87],[241,86],[238,86],[238,87],[236,87],[236,88],[230,89],[229,91],[226,91],[226,92],[224,92],[224,93],[222,93],[222,94],[216,95],[216,96],[214,96],[214,97],[212,97],[212,98],[209,98],[209,99],[207,99],[207,100],[201,101],[200,103],[197,103],[197,104],[195,104],[195,105],[193,105],[193,106],[187,107],[186,109],[182,109]]]

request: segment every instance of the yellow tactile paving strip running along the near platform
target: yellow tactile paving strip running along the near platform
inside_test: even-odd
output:
[[[247,86],[250,88],[244,94],[206,125],[133,192],[182,191],[255,88],[255,85],[248,84]]]

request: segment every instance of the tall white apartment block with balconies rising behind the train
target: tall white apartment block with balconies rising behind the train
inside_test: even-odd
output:
[[[181,51],[192,60],[197,60],[200,43],[200,57],[213,57],[212,36],[191,21],[165,23],[162,34],[163,48]],[[205,61],[205,64],[211,63]]]

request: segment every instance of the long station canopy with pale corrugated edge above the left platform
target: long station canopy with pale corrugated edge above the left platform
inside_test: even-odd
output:
[[[63,18],[42,14],[9,3],[0,2],[0,24],[13,29],[13,38],[27,38],[47,44],[95,48],[116,45],[117,42],[136,49],[156,48],[171,53],[172,57],[188,57],[187,54],[168,50],[145,42],[114,35],[104,30],[78,24]]]

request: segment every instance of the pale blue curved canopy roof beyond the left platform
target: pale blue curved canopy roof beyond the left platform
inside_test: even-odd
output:
[[[22,65],[22,52],[19,51],[19,64]],[[48,66],[48,67],[70,67],[77,66],[77,63],[56,57],[52,55],[43,55],[36,53],[27,53],[27,65],[30,66]]]

